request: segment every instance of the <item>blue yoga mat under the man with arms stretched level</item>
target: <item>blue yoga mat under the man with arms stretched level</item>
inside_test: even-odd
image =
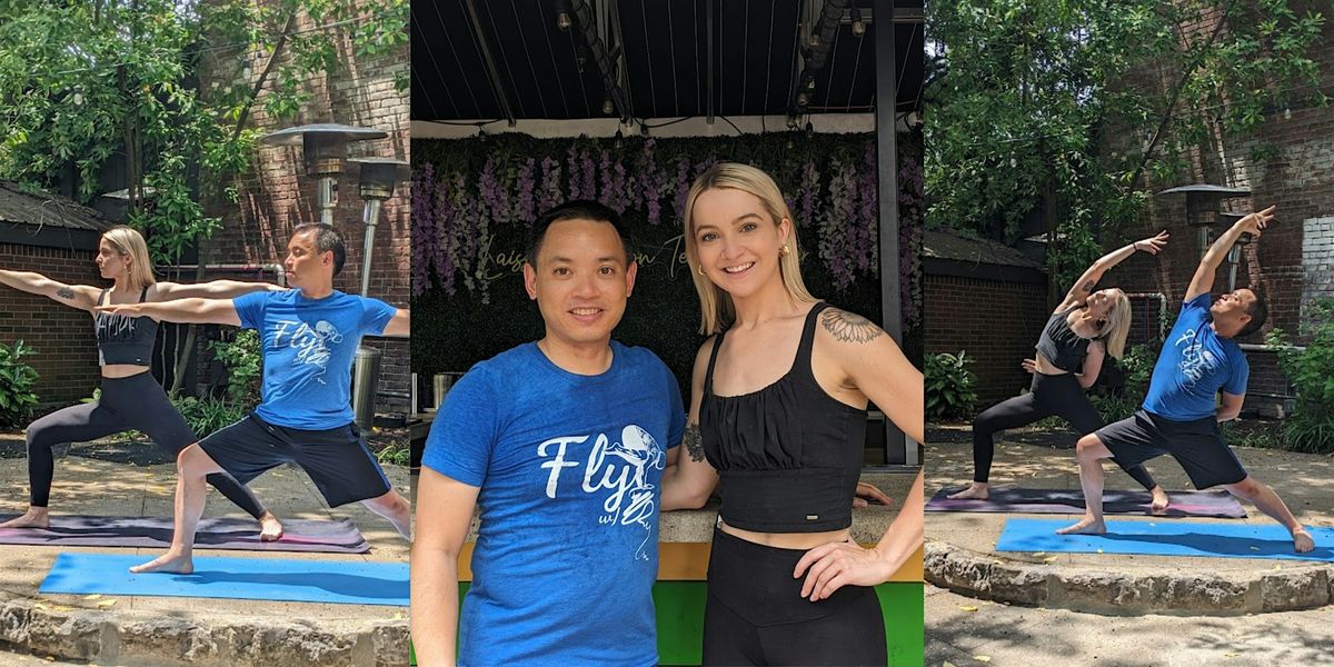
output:
[[[129,574],[152,559],[60,554],[40,592],[408,606],[407,563],[196,558],[189,575]]]

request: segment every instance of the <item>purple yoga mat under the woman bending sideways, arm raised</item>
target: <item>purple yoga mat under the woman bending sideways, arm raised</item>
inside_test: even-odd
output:
[[[992,488],[986,500],[948,496],[964,487],[942,488],[926,504],[928,512],[1013,512],[1013,514],[1083,514],[1083,491],[1055,488]],[[1218,519],[1245,519],[1246,510],[1226,491],[1169,491],[1171,504],[1157,516],[1213,516]],[[1149,511],[1147,491],[1103,492],[1102,511],[1106,514],[1153,514]]]

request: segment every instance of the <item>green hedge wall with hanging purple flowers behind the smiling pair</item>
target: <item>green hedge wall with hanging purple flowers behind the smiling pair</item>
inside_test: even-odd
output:
[[[694,165],[716,160],[731,160],[755,164],[768,171],[784,195],[795,200],[802,183],[800,169],[814,164],[816,169],[831,163],[848,164],[862,160],[874,148],[874,135],[815,135],[800,132],[770,133],[740,137],[690,137],[656,139],[654,153],[663,164],[690,160]],[[904,164],[906,180],[912,180],[915,164],[920,164],[920,135],[900,135],[900,164]],[[414,327],[412,327],[412,370],[419,375],[424,391],[430,390],[430,378],[438,372],[467,371],[474,363],[495,356],[514,346],[536,340],[543,335],[542,319],[536,304],[528,300],[523,289],[523,275],[514,257],[522,257],[527,221],[512,220],[508,224],[490,221],[486,236],[491,261],[479,271],[454,280],[451,288],[444,288],[440,275],[428,252],[422,247],[423,233],[440,233],[430,225],[419,224],[418,216],[431,215],[423,207],[430,201],[419,200],[422,176],[434,175],[442,183],[462,183],[471,192],[478,205],[484,205],[491,188],[495,192],[514,192],[516,167],[528,159],[540,163],[544,157],[566,163],[572,152],[586,155],[620,153],[640,155],[643,140],[639,137],[622,140],[619,144],[608,139],[534,139],[524,135],[496,135],[482,139],[462,140],[412,140],[414,191]],[[606,165],[606,160],[602,160]],[[530,173],[531,173],[531,164]],[[430,165],[430,172],[426,172]],[[483,175],[486,169],[487,175]],[[692,169],[694,171],[694,169]],[[491,176],[491,175],[495,176]],[[916,171],[920,173],[920,169]],[[694,175],[691,173],[691,179]],[[488,180],[490,179],[490,180]],[[523,180],[523,175],[518,176]],[[828,179],[824,179],[828,180]],[[498,185],[496,183],[502,183]],[[568,192],[567,181],[562,191]],[[864,181],[863,181],[864,183]],[[530,181],[530,188],[532,183]],[[455,185],[456,187],[456,185]],[[540,188],[540,177],[538,179]],[[907,183],[906,187],[919,188]],[[476,188],[476,189],[474,189]],[[664,192],[670,188],[664,188]],[[920,189],[916,191],[920,193]],[[438,187],[434,196],[450,196],[448,188]],[[514,196],[512,193],[510,195]],[[816,205],[827,205],[828,185],[815,193]],[[604,197],[599,197],[606,201]],[[904,244],[906,317],[904,351],[908,359],[920,367],[922,327],[920,327],[920,269],[916,260],[920,247],[920,205],[918,200],[900,205]],[[474,201],[468,200],[468,201]],[[563,199],[560,199],[563,200]],[[642,263],[635,283],[634,296],[626,311],[626,317],[615,331],[616,340],[630,346],[643,346],[652,350],[676,374],[682,394],[688,398],[690,370],[695,352],[703,342],[699,329],[699,303],[684,264],[684,248],[679,245],[680,217],[674,211],[670,196],[664,197],[660,221],[648,224],[647,213],[638,208],[623,211],[636,249],[647,257]],[[531,205],[531,204],[530,204]],[[794,216],[799,217],[799,205],[794,205]],[[427,213],[420,213],[427,211]],[[512,211],[511,211],[512,215]],[[803,248],[802,275],[807,287],[818,297],[823,297],[848,311],[880,321],[880,285],[875,275],[855,273],[850,283],[839,287],[839,279],[819,257],[818,235],[820,229],[804,220],[796,220]],[[423,228],[426,232],[423,232]],[[438,245],[438,244],[436,244]],[[679,256],[679,257],[678,257]],[[874,267],[872,267],[874,269]],[[844,272],[844,281],[846,281]],[[484,287],[483,287],[484,283]],[[452,293],[451,293],[452,292]],[[423,394],[430,396],[430,394]]]

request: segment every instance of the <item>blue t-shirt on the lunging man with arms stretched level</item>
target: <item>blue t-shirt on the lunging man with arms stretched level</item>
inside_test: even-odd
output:
[[[319,431],[352,422],[352,358],[366,334],[379,335],[398,308],[334,291],[251,292],[232,300],[241,328],[257,329],[264,354],[263,399],[255,414],[288,428]]]

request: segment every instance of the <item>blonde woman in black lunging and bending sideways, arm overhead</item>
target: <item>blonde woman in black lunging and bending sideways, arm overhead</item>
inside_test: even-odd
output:
[[[1025,370],[1033,374],[1029,394],[992,406],[972,422],[972,484],[950,498],[987,498],[995,435],[1000,431],[1027,426],[1050,415],[1059,415],[1079,435],[1103,427],[1102,418],[1085,396],[1085,390],[1098,382],[1098,372],[1107,355],[1121,359],[1126,350],[1130,299],[1114,287],[1097,292],[1093,287],[1107,269],[1135,251],[1157,255],[1166,244],[1167,232],[1159,232],[1153,239],[1103,255],[1079,276],[1043,327],[1034,359],[1023,363]],[[1126,468],[1126,472],[1153,494],[1154,511],[1167,508],[1167,492],[1143,466]]]

